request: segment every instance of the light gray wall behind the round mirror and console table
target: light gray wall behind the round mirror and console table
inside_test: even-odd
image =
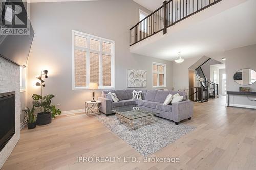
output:
[[[243,68],[256,70],[256,45],[226,51],[225,57],[227,91],[239,91],[239,87],[250,87],[251,91],[255,92],[256,83],[252,85],[239,85],[233,80],[233,75]],[[256,98],[256,96],[251,99],[254,98]],[[256,101],[250,101],[246,96],[230,96],[230,104],[234,106],[256,108]]]

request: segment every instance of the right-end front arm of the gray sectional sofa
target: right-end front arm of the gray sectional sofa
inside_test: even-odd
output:
[[[193,116],[193,101],[182,101],[172,103],[172,118],[175,122],[180,122]]]

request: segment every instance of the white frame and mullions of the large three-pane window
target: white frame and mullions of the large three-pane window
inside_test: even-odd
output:
[[[84,37],[87,39],[87,47],[77,47],[75,46],[75,35]],[[90,49],[90,39],[96,40],[100,42],[100,49],[98,50],[91,50]],[[111,53],[105,53],[102,51],[102,42],[112,44]],[[76,87],[75,86],[75,50],[82,50],[86,51],[86,87]],[[90,83],[90,53],[97,53],[99,54],[99,89],[114,89],[115,88],[115,41],[109,40],[106,38],[101,38],[95,35],[82,33],[79,31],[72,30],[72,90],[87,90],[89,89]],[[102,72],[102,55],[109,55],[111,56],[111,85],[112,86],[102,86],[103,83],[103,72]]]

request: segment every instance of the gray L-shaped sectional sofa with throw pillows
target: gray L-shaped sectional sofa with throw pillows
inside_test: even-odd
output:
[[[191,119],[193,116],[193,101],[187,100],[186,92],[180,91],[159,91],[159,90],[136,90],[142,91],[142,100],[132,99],[134,89],[128,90],[109,90],[102,91],[102,96],[98,98],[101,101],[101,112],[106,116],[113,114],[112,110],[119,107],[138,105],[148,111],[159,113],[158,117],[166,118],[178,124],[181,120]],[[106,98],[109,92],[115,93],[119,102],[112,102]],[[168,94],[177,94],[183,96],[182,102],[173,103],[172,105],[163,105]]]

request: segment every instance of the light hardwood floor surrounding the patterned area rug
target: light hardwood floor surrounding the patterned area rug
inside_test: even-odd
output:
[[[256,110],[225,107],[225,98],[195,103],[197,129],[151,156],[179,163],[142,163],[143,156],[95,117],[61,116],[22,130],[5,169],[256,169]],[[77,156],[134,156],[141,163],[78,163]]]

